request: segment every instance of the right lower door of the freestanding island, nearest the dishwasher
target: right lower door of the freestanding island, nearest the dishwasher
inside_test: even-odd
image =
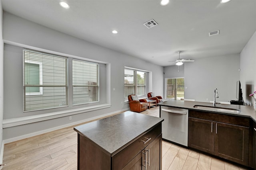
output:
[[[147,152],[147,170],[162,169],[162,134],[152,141],[145,149]],[[144,163],[143,163],[144,164]]]

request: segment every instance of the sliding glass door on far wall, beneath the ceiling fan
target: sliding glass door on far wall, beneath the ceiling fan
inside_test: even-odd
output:
[[[167,99],[184,99],[184,78],[167,78],[166,83]]]

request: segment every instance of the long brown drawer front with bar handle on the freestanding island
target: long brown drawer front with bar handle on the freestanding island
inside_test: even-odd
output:
[[[153,129],[146,132],[146,134],[139,137],[136,141],[132,142],[128,147],[125,147],[120,152],[114,155],[112,164],[114,170],[122,169],[130,160],[132,160],[138,153],[147,147],[156,137],[162,133],[162,123],[158,124]]]

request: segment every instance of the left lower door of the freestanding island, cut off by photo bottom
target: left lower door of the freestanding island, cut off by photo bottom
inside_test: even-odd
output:
[[[144,160],[143,160],[143,158]],[[142,162],[145,162],[145,155],[140,152],[122,170],[142,170]]]

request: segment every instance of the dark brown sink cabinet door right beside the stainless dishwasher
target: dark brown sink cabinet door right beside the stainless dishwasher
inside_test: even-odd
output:
[[[188,146],[210,154],[214,153],[214,123],[189,117]]]

